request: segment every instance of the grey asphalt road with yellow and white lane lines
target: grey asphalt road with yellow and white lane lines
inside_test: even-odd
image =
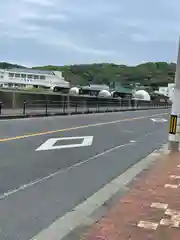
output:
[[[30,240],[160,147],[168,122],[152,118],[168,110],[0,121],[0,239]]]

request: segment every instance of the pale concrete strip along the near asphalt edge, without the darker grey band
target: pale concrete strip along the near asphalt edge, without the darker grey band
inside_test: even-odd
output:
[[[71,212],[68,212],[61,218],[57,219],[52,225],[41,231],[31,240],[62,240],[73,230],[83,225],[96,210],[110,200],[115,194],[121,190],[124,191],[126,185],[129,184],[142,170],[147,169],[150,164],[155,162],[161,154],[168,154],[168,152],[167,144],[163,145],[161,149],[153,151],[146,158],[142,159],[123,174],[106,184],[86,201],[77,205]]]

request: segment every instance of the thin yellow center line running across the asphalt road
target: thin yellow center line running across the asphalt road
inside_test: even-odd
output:
[[[97,127],[97,126],[103,126],[103,125],[109,125],[109,124],[115,124],[115,123],[121,123],[121,122],[129,122],[129,121],[140,120],[140,119],[155,117],[155,116],[159,116],[159,115],[167,115],[167,114],[168,113],[158,113],[158,114],[154,114],[154,115],[150,115],[150,116],[142,116],[142,117],[136,117],[136,118],[125,118],[125,119],[111,121],[111,122],[93,123],[93,124],[81,125],[81,126],[76,126],[76,127],[62,128],[62,129],[57,129],[57,130],[52,130],[52,131],[46,131],[46,132],[37,132],[37,133],[25,134],[25,135],[15,136],[15,137],[0,138],[0,142],[20,140],[20,139],[24,139],[24,138],[43,136],[43,135],[48,135],[48,134],[53,134],[53,133],[58,133],[58,132],[68,132],[68,131],[72,131],[72,130],[76,130],[76,129],[84,129],[84,128],[88,128],[88,127]]]

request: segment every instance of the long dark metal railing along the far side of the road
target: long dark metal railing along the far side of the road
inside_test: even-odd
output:
[[[135,101],[119,99],[98,99],[94,100],[69,100],[65,101],[24,101],[22,108],[8,109],[0,103],[0,117],[3,116],[49,116],[49,115],[70,115],[82,113],[118,112],[127,110],[143,110],[155,108],[169,108],[170,104],[153,101]]]

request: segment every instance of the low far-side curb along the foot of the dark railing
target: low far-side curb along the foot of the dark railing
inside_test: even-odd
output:
[[[108,113],[108,112],[127,112],[127,111],[142,111],[142,110],[155,110],[155,109],[169,109],[165,107],[159,108],[136,108],[136,109],[121,109],[121,110],[106,110],[106,111],[85,111],[85,112],[70,112],[70,113],[35,113],[35,114],[17,114],[17,115],[0,115],[0,120],[5,119],[23,119],[23,118],[39,118],[39,117],[52,117],[52,116],[66,116],[66,115],[82,115],[82,114],[98,114],[98,113]]]

